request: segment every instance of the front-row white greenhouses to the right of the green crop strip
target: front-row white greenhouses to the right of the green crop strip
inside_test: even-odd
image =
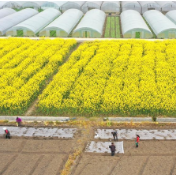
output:
[[[176,10],[163,15],[158,10],[150,10],[143,17],[134,10],[121,14],[122,33],[125,38],[176,38]],[[151,28],[151,29],[150,29]]]

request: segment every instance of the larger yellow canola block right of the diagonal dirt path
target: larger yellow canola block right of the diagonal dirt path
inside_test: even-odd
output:
[[[53,115],[176,114],[176,41],[83,43],[39,100]]]

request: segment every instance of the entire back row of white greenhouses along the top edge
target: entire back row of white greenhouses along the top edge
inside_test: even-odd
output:
[[[176,1],[0,1],[1,8],[56,8],[62,12],[78,9],[86,13],[90,9],[99,9],[106,13],[120,14],[126,10],[136,10],[144,14],[148,10],[167,13],[176,10]]]

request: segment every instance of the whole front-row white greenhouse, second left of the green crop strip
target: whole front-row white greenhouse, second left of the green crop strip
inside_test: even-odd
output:
[[[40,32],[40,36],[50,37],[52,31],[56,31],[57,37],[68,37],[78,22],[83,17],[83,12],[70,9]]]

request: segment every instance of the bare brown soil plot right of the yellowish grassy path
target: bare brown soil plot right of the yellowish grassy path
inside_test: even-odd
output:
[[[73,175],[175,175],[176,141],[124,141],[125,154],[84,153]]]

